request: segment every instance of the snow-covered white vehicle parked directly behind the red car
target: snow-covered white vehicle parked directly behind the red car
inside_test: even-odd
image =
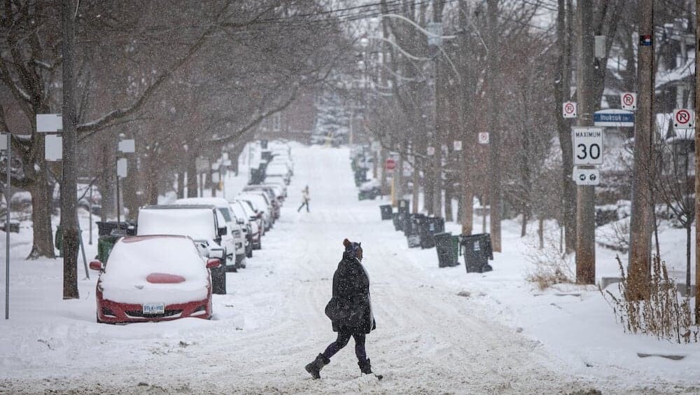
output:
[[[200,255],[207,258],[221,257],[220,268],[211,271],[212,291],[226,293],[226,267],[233,254],[223,244],[221,237],[228,233],[225,223],[219,223],[218,212],[213,205],[151,205],[141,207],[137,235],[182,235],[195,240]],[[219,214],[221,215],[221,214]],[[220,252],[221,251],[221,252]]]

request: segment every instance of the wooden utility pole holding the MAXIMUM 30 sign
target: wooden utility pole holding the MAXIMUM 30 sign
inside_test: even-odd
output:
[[[593,92],[594,36],[592,0],[578,2],[578,48],[576,64],[576,98],[578,102],[577,126],[593,126],[596,110]],[[576,188],[576,282],[594,284],[596,282],[596,223],[595,187]]]

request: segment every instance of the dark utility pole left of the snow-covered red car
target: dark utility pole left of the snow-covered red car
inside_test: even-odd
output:
[[[63,230],[63,298],[78,294],[78,186],[75,84],[73,83],[73,41],[75,4],[63,0],[63,179],[61,182],[61,229]]]

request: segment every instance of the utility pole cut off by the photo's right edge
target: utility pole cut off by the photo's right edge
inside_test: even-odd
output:
[[[695,41],[700,44],[700,0],[695,0]],[[700,48],[700,45],[696,48]],[[700,113],[700,61],[695,55],[695,116]],[[700,324],[700,233],[697,232],[700,223],[700,134],[695,127],[695,324]]]

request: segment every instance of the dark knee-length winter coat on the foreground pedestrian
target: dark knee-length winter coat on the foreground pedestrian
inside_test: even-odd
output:
[[[370,333],[377,324],[370,302],[370,278],[357,258],[343,255],[333,275],[333,296],[325,307],[333,331]]]

